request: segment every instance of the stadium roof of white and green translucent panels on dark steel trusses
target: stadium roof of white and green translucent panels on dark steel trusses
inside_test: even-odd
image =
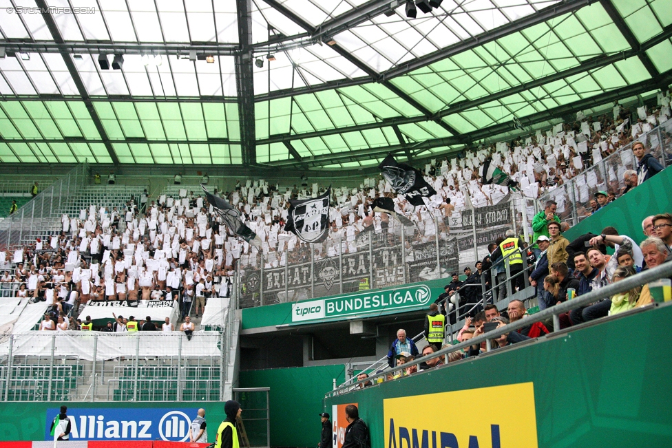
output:
[[[405,5],[0,0],[0,161],[358,168],[672,82],[672,0]]]

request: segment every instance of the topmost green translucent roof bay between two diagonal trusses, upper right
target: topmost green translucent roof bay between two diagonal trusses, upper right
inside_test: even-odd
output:
[[[392,80],[433,112],[629,49],[600,3]]]

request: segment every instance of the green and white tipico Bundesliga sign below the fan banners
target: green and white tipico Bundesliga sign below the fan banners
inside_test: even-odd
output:
[[[317,321],[401,311],[426,306],[432,292],[426,285],[414,285],[383,291],[328,297],[294,303],[292,322]]]

